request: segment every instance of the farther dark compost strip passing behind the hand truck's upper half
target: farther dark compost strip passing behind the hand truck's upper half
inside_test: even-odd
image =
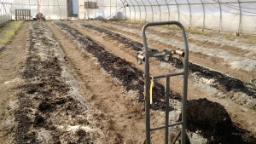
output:
[[[132,50],[141,51],[143,48],[143,43],[139,43],[118,33],[110,32],[104,28],[91,26],[88,24],[82,26],[91,30],[95,30],[97,32],[105,33],[106,35],[108,35],[108,37],[118,40],[119,43],[125,44],[127,48],[130,48]],[[155,52],[158,51],[157,49],[151,50]],[[177,58],[173,58],[168,61],[164,60],[164,58],[159,58],[159,60],[162,62],[171,63],[172,66],[175,66],[179,69],[183,68],[182,61]],[[218,84],[220,84],[227,91],[234,90],[236,92],[243,92],[249,96],[252,96],[253,98],[256,98],[256,89],[253,84],[242,82],[240,79],[232,78],[228,75],[225,75],[224,73],[213,71],[207,67],[199,66],[193,62],[189,62],[189,72],[195,72],[196,75],[202,78],[214,78],[215,81],[214,84],[212,84],[212,87],[214,88],[218,89]]]

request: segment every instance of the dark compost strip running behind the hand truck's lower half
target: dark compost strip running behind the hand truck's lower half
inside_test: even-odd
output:
[[[91,55],[94,55],[104,70],[110,73],[113,77],[118,78],[120,82],[124,85],[127,91],[134,90],[138,91],[139,98],[138,101],[144,101],[143,95],[143,72],[137,70],[136,67],[132,66],[130,62],[122,60],[117,55],[113,55],[108,52],[102,46],[94,42],[90,37],[86,37],[81,34],[79,31],[67,26],[63,23],[55,23],[57,26],[60,26],[61,29],[65,30],[72,37],[75,37],[79,43],[83,44],[84,49],[88,51]],[[152,104],[153,109],[165,110],[165,88],[162,84],[155,82],[155,87],[153,89],[154,97]],[[181,100],[180,96],[174,95],[171,93],[172,99]]]

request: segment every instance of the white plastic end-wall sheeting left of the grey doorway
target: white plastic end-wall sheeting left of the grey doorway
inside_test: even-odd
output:
[[[31,9],[34,18],[38,12],[46,20],[67,20],[67,0],[14,0],[14,9]]]

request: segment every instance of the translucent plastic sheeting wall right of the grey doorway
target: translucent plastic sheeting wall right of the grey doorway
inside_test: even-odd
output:
[[[79,19],[177,20],[191,28],[256,34],[256,0],[92,0],[98,9],[84,9]]]

